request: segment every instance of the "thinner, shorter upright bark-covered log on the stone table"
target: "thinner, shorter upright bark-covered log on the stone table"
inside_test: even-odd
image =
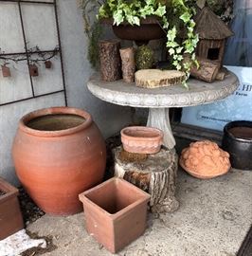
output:
[[[121,70],[125,82],[134,82],[135,77],[135,49],[134,47],[121,48]]]

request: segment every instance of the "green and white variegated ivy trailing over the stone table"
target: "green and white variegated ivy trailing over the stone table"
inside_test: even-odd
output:
[[[140,26],[141,19],[156,16],[167,34],[166,46],[171,56],[171,64],[177,70],[185,71],[188,79],[191,64],[197,64],[194,51],[199,40],[198,35],[194,33],[195,23],[192,19],[195,13],[194,2],[193,0],[106,0],[99,8],[98,17],[113,18],[116,26],[123,22]],[[186,30],[182,42],[179,38],[181,27]],[[185,54],[191,61],[183,62]],[[184,85],[188,88],[186,81]]]

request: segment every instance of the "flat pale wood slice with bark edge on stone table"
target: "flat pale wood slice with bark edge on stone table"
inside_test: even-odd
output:
[[[170,86],[185,79],[185,73],[177,70],[141,69],[135,72],[135,85],[145,88]]]

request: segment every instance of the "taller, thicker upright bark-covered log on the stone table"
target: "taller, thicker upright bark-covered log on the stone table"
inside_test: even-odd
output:
[[[113,82],[121,78],[119,47],[118,41],[99,41],[99,69],[102,81]]]

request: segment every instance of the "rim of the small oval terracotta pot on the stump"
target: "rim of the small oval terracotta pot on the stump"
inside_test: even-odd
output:
[[[131,136],[127,134],[128,131],[143,131],[143,132],[149,132],[152,134],[152,137],[140,137],[140,136]],[[137,139],[137,140],[143,140],[143,141],[153,141],[153,140],[162,140],[164,134],[161,130],[153,127],[146,127],[146,126],[129,126],[125,127],[120,131],[121,137],[125,137],[128,139]]]

